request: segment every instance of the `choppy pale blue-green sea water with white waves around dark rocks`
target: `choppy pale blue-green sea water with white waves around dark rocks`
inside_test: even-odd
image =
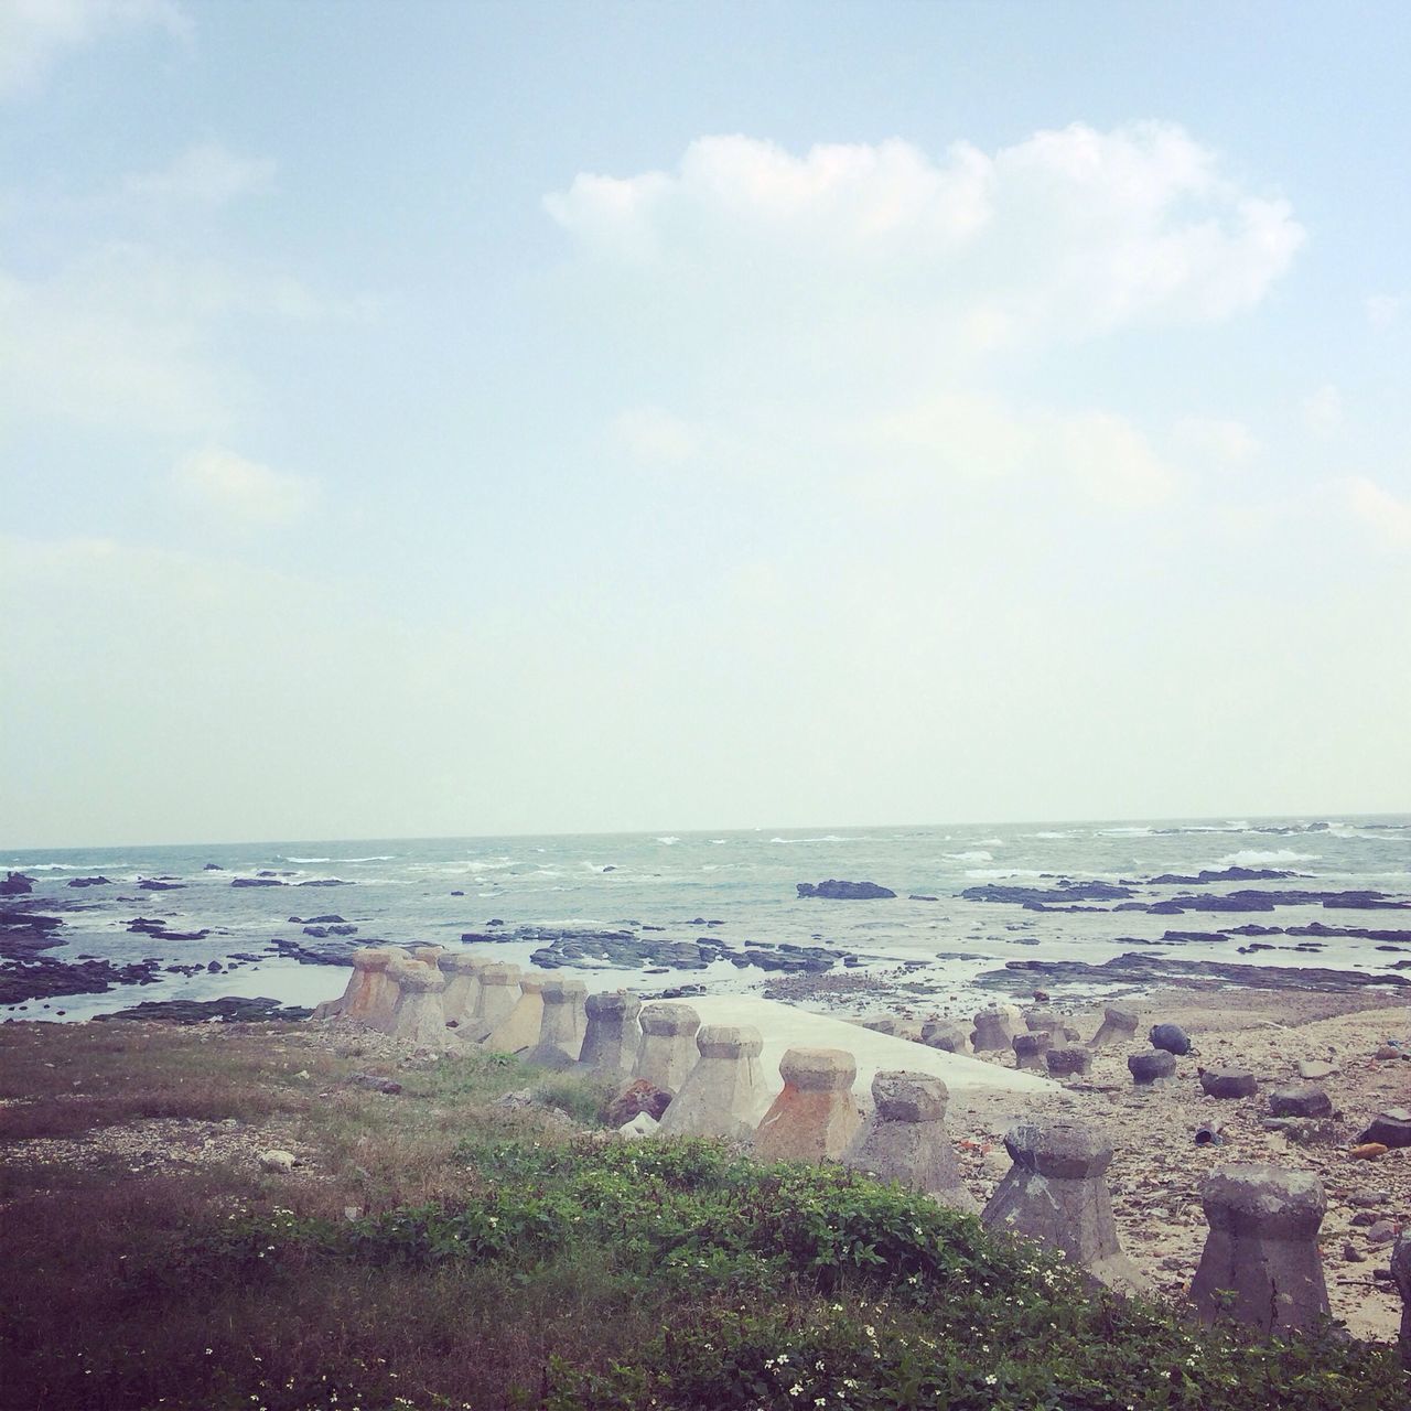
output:
[[[206,864],[222,871],[206,871]],[[0,1017],[83,1019],[138,1000],[267,995],[315,1003],[343,991],[349,971],[301,965],[271,954],[274,937],[303,941],[289,917],[337,913],[358,927],[358,941],[459,945],[461,931],[492,919],[504,930],[533,924],[590,930],[625,921],[662,927],[658,938],[710,934],[732,945],[825,944],[859,957],[861,969],[924,964],[923,975],[947,998],[964,998],[983,972],[1015,959],[1101,964],[1126,951],[1181,959],[1324,967],[1391,974],[1411,959],[1411,945],[1379,948],[1377,940],[1319,938],[1321,950],[1294,950],[1300,937],[1261,937],[1276,948],[1240,955],[1242,937],[1160,944],[1168,930],[1213,933],[1247,923],[1411,930],[1411,910],[1278,906],[1256,914],[1140,912],[1031,912],[1017,904],[968,900],[986,883],[1054,888],[1058,879],[1143,882],[1163,873],[1195,875],[1229,866],[1277,868],[1292,880],[1221,882],[1208,886],[1139,888],[1141,900],[1180,893],[1253,890],[1376,890],[1411,902],[1411,816],[1357,818],[1260,818],[1007,824],[937,828],[820,828],[745,832],[624,834],[365,840],[361,842],[262,842],[237,845],[41,849],[0,854],[0,869],[37,879],[27,899],[42,912],[62,899],[65,944],[48,957],[103,957],[133,962],[224,964],[257,957],[222,974],[162,974],[161,982],[119,986],[0,1009]],[[231,878],[278,872],[285,886],[233,888]],[[69,879],[103,875],[111,886],[73,889]],[[171,878],[181,890],[137,889],[143,878]],[[796,883],[827,878],[871,880],[895,900],[799,899]],[[341,886],[301,886],[337,879]],[[463,896],[453,896],[463,892]],[[912,895],[935,900],[912,900]],[[1098,903],[1110,907],[1113,903]],[[135,917],[169,930],[209,927],[200,941],[133,934]],[[721,923],[704,931],[700,920]],[[653,933],[656,934],[656,933]],[[528,964],[540,943],[495,947],[497,958]],[[1307,943],[1304,943],[1307,944]],[[602,967],[566,971],[590,989],[619,985],[648,991],[703,982],[748,991],[770,976],[718,962],[706,971],[648,975]],[[1096,993],[1099,991],[1094,991]],[[1072,993],[1067,991],[1065,993]]]

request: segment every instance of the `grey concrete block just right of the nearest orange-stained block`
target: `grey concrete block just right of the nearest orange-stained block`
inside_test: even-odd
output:
[[[948,1101],[945,1084],[930,1074],[879,1072],[872,1079],[872,1116],[842,1153],[842,1164],[978,1215],[979,1202],[961,1181],[955,1147],[945,1130]]]

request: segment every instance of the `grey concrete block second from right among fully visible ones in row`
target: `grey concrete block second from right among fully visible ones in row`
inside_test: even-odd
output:
[[[1005,1149],[1015,1164],[985,1206],[985,1225],[1062,1250],[1110,1288],[1143,1290],[1144,1280],[1118,1243],[1103,1180],[1110,1139],[1086,1122],[1054,1118],[1015,1123]]]

